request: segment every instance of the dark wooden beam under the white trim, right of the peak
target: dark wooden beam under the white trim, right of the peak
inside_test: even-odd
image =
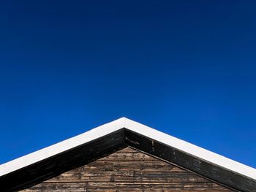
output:
[[[172,162],[178,166],[189,169],[192,172],[214,180],[217,183],[236,189],[238,191],[256,191],[256,180],[244,175],[231,172],[216,164],[203,161],[195,156],[189,155],[176,148],[167,146],[161,142],[125,129],[125,142],[127,145],[142,150],[148,154],[157,156],[165,161]]]

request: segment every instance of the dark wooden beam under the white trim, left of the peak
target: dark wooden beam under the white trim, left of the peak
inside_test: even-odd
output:
[[[29,188],[70,169],[88,164],[102,155],[118,150],[123,145],[124,129],[121,129],[0,177],[0,191],[19,191]]]

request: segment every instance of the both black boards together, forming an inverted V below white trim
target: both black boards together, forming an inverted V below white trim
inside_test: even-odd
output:
[[[1,176],[1,191],[18,191],[29,188],[31,185],[36,185],[63,172],[88,164],[127,145],[184,167],[237,191],[256,191],[256,180],[236,172],[231,172],[216,164],[203,161],[203,159],[129,131],[126,128]]]

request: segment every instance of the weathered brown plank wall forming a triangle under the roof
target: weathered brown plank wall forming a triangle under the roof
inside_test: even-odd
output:
[[[23,191],[232,191],[126,147]]]

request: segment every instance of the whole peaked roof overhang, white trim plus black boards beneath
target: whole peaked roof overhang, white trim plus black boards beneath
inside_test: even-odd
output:
[[[127,146],[237,191],[256,191],[254,168],[127,118],[1,164],[1,191],[27,188]]]

